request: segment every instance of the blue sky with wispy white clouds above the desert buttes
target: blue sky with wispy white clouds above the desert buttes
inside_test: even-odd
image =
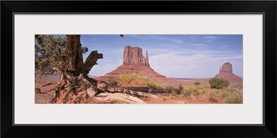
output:
[[[81,43],[89,48],[84,59],[92,50],[103,54],[89,72],[92,76],[122,65],[125,46],[139,46],[143,55],[148,50],[150,67],[166,77],[215,77],[225,62],[242,77],[242,34],[82,34]]]

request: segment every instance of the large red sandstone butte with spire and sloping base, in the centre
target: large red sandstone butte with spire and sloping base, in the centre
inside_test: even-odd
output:
[[[123,50],[123,65],[115,70],[100,77],[102,79],[110,79],[119,77],[123,74],[136,74],[147,77],[156,83],[174,83],[175,79],[168,79],[158,72],[155,72],[151,67],[148,59],[148,51],[146,50],[145,57],[143,50],[139,47],[125,46]]]

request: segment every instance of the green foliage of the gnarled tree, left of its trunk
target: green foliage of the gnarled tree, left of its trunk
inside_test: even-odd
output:
[[[64,63],[66,44],[67,37],[35,35],[35,70],[41,73],[52,72],[58,63]],[[87,51],[87,47],[82,47],[82,53]]]

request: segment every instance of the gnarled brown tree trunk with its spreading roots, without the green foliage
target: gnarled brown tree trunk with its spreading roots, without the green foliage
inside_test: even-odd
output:
[[[103,55],[98,51],[92,51],[83,62],[80,35],[66,35],[66,37],[68,38],[66,61],[58,63],[55,67],[60,74],[60,81],[53,88],[54,96],[51,103],[144,103],[137,96],[154,97],[125,88],[114,88],[108,83],[89,78],[87,76],[89,70],[97,65],[97,60],[102,59]],[[106,94],[99,95],[100,93]]]

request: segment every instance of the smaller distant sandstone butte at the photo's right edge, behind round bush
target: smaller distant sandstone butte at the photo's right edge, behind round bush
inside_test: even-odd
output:
[[[238,77],[237,75],[233,74],[233,67],[232,64],[226,62],[220,67],[220,73],[215,75],[216,78],[226,79],[230,82],[242,82],[242,78]]]

